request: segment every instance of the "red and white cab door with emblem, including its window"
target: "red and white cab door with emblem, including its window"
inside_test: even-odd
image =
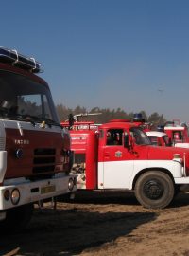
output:
[[[129,189],[133,154],[124,147],[124,129],[109,129],[102,150],[103,189]],[[100,176],[100,175],[99,175]]]

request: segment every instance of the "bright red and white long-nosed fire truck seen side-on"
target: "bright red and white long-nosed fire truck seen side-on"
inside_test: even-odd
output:
[[[135,122],[114,119],[99,126],[70,125],[72,174],[77,174],[78,189],[133,190],[144,207],[159,209],[189,184],[189,150],[154,147]]]

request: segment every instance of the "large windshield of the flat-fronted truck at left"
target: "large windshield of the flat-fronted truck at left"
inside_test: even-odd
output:
[[[48,87],[29,77],[0,70],[0,118],[59,123]]]

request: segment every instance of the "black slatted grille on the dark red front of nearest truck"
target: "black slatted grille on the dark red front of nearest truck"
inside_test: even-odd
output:
[[[33,174],[52,173],[55,170],[56,149],[40,148],[34,150]]]

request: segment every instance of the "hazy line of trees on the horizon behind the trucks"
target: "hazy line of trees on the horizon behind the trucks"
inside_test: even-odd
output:
[[[58,104],[56,108],[57,108],[60,121],[67,120],[70,114],[72,114],[73,116],[79,115],[79,114],[86,114],[86,115],[83,115],[83,117],[80,117],[80,120],[83,120],[83,121],[93,120],[95,123],[105,123],[111,119],[132,120],[135,114],[134,112],[127,113],[121,108],[111,110],[109,108],[94,107],[89,111],[85,107],[77,106],[76,108],[72,109],[72,108],[67,108],[62,104]],[[147,116],[144,110],[140,111],[139,113],[142,114],[143,119],[145,119],[146,122],[153,123],[154,125],[163,125],[166,122],[166,119],[164,119],[163,114],[160,115],[157,112],[154,112],[151,115]],[[91,116],[90,114],[96,114],[96,115]]]

